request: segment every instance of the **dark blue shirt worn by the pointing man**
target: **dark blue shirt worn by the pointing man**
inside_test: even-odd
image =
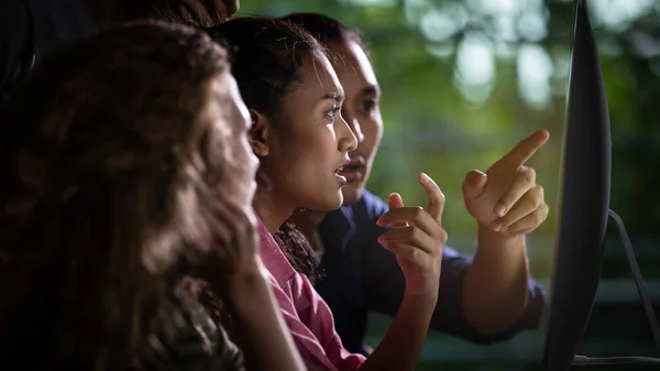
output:
[[[326,299],[344,347],[360,352],[370,310],[395,316],[406,281],[393,253],[377,238],[385,231],[376,220],[387,211],[385,201],[365,192],[360,203],[328,212],[319,226],[324,247],[321,268],[326,276],[316,288]],[[430,327],[465,340],[488,343],[512,338],[540,325],[544,308],[543,288],[529,281],[529,305],[517,324],[496,336],[484,337],[463,318],[463,273],[472,258],[447,247],[442,257],[438,305]]]

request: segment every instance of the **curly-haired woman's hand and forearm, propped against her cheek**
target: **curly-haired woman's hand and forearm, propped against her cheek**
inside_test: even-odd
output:
[[[249,360],[248,370],[306,370],[258,258],[254,210],[226,199],[208,205],[212,205],[206,218],[212,243],[191,248],[191,269],[222,295]]]

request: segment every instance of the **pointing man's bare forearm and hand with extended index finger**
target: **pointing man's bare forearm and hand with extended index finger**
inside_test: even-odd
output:
[[[524,164],[548,138],[544,130],[535,132],[463,183],[465,206],[479,225],[477,251],[464,277],[463,316],[484,335],[509,328],[529,303],[525,237],[546,220],[548,205],[536,172]]]

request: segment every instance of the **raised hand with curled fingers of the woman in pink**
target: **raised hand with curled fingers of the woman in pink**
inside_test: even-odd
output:
[[[420,174],[419,183],[429,197],[427,208],[406,207],[398,194],[392,194],[389,211],[377,220],[378,226],[392,225],[392,229],[383,233],[378,242],[396,255],[406,277],[407,294],[438,295],[447,242],[447,232],[442,228],[444,195],[426,174]]]

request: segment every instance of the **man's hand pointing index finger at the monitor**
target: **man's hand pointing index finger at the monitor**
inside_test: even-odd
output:
[[[520,141],[486,173],[471,171],[463,183],[468,211],[480,227],[510,236],[529,233],[548,217],[543,187],[536,184],[536,171],[525,166],[550,138],[539,130]]]

